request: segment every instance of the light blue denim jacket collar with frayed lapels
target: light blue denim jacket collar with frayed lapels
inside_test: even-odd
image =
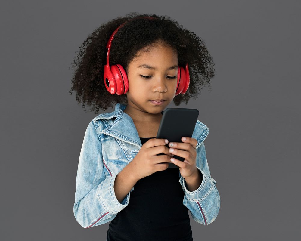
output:
[[[130,144],[134,144],[137,147],[141,148],[142,144],[138,131],[136,128],[132,128],[133,126],[135,126],[135,124],[133,122],[132,117],[130,117],[127,113],[123,112],[125,108],[125,104],[116,103],[115,110],[113,112],[102,113],[96,116],[93,119],[93,122],[96,122],[97,120],[109,120],[116,117],[116,119],[113,122],[110,122],[111,124],[109,124],[108,121],[106,122],[108,126],[107,128],[103,129],[101,133],[113,136],[117,139],[128,142]],[[164,111],[161,111],[162,114],[163,112]],[[199,147],[200,144],[203,143],[208,133],[209,128],[202,122],[197,120],[197,124],[192,134],[192,138],[195,138],[197,140],[197,147]]]

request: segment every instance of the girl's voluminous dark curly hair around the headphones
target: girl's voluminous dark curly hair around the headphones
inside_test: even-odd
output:
[[[156,20],[141,17],[155,17]],[[130,21],[129,21],[130,20]],[[203,40],[194,32],[183,29],[174,19],[156,14],[138,14],[131,12],[125,17],[117,17],[105,22],[82,43],[80,51],[73,59],[72,88],[76,91],[76,100],[92,105],[91,111],[98,113],[99,108],[107,110],[118,102],[127,104],[126,94],[110,94],[104,84],[104,65],[106,64],[106,45],[114,30],[122,23],[129,21],[114,35],[110,49],[110,66],[121,64],[128,71],[129,63],[137,57],[140,50],[147,51],[154,43],[163,42],[178,52],[178,65],[188,63],[190,84],[185,94],[178,94],[173,102],[178,106],[188,103],[190,97],[197,99],[198,90],[206,83],[210,87],[210,78],[214,77],[214,63]],[[73,69],[73,68],[72,68]],[[74,69],[73,69],[74,70]],[[210,88],[209,88],[210,89]]]

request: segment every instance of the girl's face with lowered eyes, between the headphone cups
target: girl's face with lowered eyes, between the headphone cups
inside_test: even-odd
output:
[[[178,53],[166,45],[157,45],[148,52],[139,53],[138,56],[128,66],[129,90],[126,93],[126,109],[161,115],[161,111],[175,97]],[[151,102],[157,99],[164,101],[160,105]]]

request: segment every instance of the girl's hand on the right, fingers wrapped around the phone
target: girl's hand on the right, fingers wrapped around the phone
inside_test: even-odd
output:
[[[175,159],[174,157],[172,157],[171,160],[175,160],[172,163],[179,167],[181,175],[185,179],[189,179],[194,177],[198,171],[196,166],[197,140],[191,137],[186,137],[186,140],[183,138],[184,137],[182,137],[183,142],[169,142],[168,146],[172,147],[169,148],[169,153],[184,158],[184,162]],[[171,151],[172,149],[174,150],[173,152]]]

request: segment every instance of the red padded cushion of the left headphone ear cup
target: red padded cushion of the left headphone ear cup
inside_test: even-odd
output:
[[[116,91],[115,94],[117,95],[125,94],[126,91],[128,91],[129,89],[129,82],[123,67],[120,64],[112,65],[111,72],[116,82],[117,91],[115,90]]]

